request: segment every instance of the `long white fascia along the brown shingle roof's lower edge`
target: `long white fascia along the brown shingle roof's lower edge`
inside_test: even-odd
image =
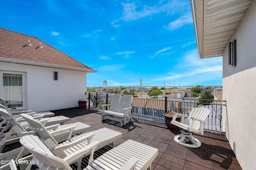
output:
[[[10,58],[5,58],[5,57],[0,57],[0,61],[7,62],[7,63],[34,65],[34,66],[40,66],[40,67],[51,67],[51,68],[56,68],[56,69],[68,69],[68,70],[74,70],[74,71],[84,71],[84,72],[87,72],[87,73],[95,73],[96,72],[96,70],[93,70],[93,69],[83,69],[83,68],[77,68],[77,67],[68,67],[68,66],[62,66],[62,65],[38,63],[38,62],[34,62],[34,61],[25,61],[25,60],[20,60],[20,59],[10,59]]]

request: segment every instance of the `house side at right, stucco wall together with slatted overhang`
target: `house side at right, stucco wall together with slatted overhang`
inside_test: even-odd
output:
[[[223,56],[224,132],[242,169],[255,169],[256,1],[191,0],[191,5],[200,58]],[[228,44],[234,40],[236,63],[229,64]]]

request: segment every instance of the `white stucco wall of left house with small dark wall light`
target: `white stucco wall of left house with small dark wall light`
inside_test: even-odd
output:
[[[86,72],[0,62],[0,71],[21,71],[27,79],[27,108],[51,111],[78,107],[79,94],[86,92]],[[58,80],[53,79],[54,71]]]

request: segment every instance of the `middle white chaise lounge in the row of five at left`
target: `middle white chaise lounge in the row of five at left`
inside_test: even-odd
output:
[[[28,131],[29,130],[28,123],[23,122],[23,124],[20,124],[16,119],[14,119],[12,115],[10,115],[10,113],[8,113],[6,109],[0,108],[0,114],[2,115],[2,118],[8,122],[7,125],[0,132],[0,137],[1,137],[0,138],[0,160],[4,160],[10,156],[14,156],[15,154],[20,153],[22,150],[22,147],[19,147],[19,148],[10,150],[8,152],[2,153],[4,146],[18,142],[20,139],[20,136],[33,134],[34,131]],[[29,115],[26,115],[26,116],[29,116]],[[71,136],[74,134],[85,132],[86,130],[90,129],[90,126],[81,122],[76,122],[76,123],[70,123],[66,125],[57,124],[57,125],[52,125],[44,128],[47,129],[47,131],[56,140],[60,140],[66,137],[71,138]],[[8,132],[6,132],[7,130]],[[19,137],[7,140],[12,134],[17,134]]]

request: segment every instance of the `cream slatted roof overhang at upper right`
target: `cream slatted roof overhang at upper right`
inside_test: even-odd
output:
[[[200,58],[223,55],[252,0],[191,0]]]

